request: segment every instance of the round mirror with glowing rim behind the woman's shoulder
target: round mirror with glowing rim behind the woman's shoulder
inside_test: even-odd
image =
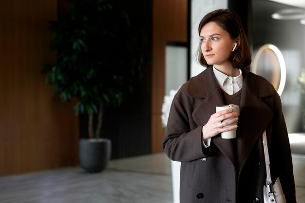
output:
[[[282,94],[286,83],[286,65],[281,51],[272,44],[263,45],[254,55],[251,71],[266,78]]]

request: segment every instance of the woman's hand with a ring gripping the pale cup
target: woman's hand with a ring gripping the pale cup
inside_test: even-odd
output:
[[[226,118],[235,117],[228,121],[222,122]],[[202,138],[204,140],[209,139],[219,133],[236,130],[237,125],[233,125],[224,128],[238,120],[237,113],[233,112],[233,109],[226,109],[212,114],[207,124],[202,127]]]

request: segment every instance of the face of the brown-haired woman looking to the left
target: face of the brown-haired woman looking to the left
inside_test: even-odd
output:
[[[200,41],[202,54],[209,65],[214,65],[215,68],[231,65],[229,56],[235,40],[217,23],[209,22],[203,26]]]

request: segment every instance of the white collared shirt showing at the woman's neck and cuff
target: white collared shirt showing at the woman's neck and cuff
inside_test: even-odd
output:
[[[222,88],[227,94],[232,95],[238,92],[243,87],[243,74],[239,69],[240,74],[236,77],[228,76],[213,66],[213,72],[220,88]],[[210,147],[211,138],[203,140],[203,147]]]

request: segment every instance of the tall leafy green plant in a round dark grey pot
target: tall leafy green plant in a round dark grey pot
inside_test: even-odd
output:
[[[104,109],[121,106],[141,77],[146,56],[138,44],[143,36],[133,32],[118,1],[68,2],[69,8],[50,22],[49,46],[57,51],[57,60],[42,72],[62,101],[76,98],[76,115],[88,115],[90,139],[79,140],[79,161],[85,170],[96,172],[106,168],[111,152],[111,141],[100,138]]]

